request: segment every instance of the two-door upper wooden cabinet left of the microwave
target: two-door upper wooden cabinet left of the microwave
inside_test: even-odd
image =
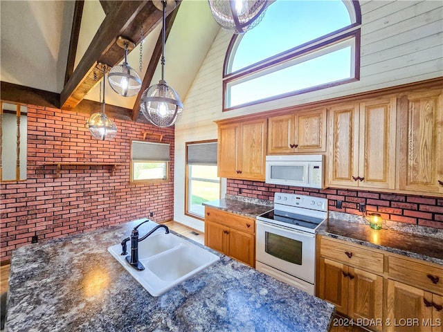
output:
[[[219,123],[218,175],[264,181],[266,119]]]

